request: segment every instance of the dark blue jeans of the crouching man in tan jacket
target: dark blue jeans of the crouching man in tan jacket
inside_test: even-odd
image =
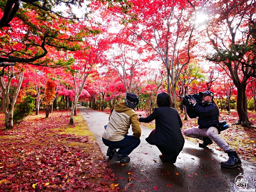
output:
[[[121,141],[108,141],[102,137],[102,141],[109,149],[119,149],[118,152],[124,157],[128,156],[140,144],[140,139],[133,135],[125,135]]]

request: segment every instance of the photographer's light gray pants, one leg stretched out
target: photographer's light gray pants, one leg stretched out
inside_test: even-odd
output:
[[[203,137],[210,137],[224,152],[236,151],[218,134],[219,131],[216,127],[209,127],[207,129],[199,129],[198,127],[192,127],[185,129],[183,133],[188,137],[197,138],[203,140]]]

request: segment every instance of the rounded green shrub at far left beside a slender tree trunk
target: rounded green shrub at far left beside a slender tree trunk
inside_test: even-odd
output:
[[[23,97],[21,103],[16,105],[15,110],[13,111],[13,122],[20,123],[28,115],[33,113],[35,99],[31,96]]]

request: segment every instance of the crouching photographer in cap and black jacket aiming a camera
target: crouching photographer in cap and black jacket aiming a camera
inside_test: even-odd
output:
[[[201,102],[196,101],[191,96],[191,98],[188,99],[188,104],[185,105],[187,108],[187,114],[190,118],[198,117],[197,123],[199,126],[185,129],[183,133],[188,137],[202,140],[203,143],[199,143],[199,147],[206,147],[207,145],[211,145],[214,141],[221,149],[224,150],[224,152],[228,153],[228,161],[220,163],[222,167],[235,168],[242,166],[236,150],[229,146],[228,143],[220,137],[219,130],[216,128],[219,123],[220,111],[216,103],[213,101],[212,91],[206,90],[204,92],[200,92],[199,95],[202,98]]]

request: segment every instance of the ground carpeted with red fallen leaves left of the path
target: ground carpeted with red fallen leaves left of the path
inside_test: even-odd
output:
[[[83,117],[29,116],[13,130],[0,114],[0,191],[120,191]]]

